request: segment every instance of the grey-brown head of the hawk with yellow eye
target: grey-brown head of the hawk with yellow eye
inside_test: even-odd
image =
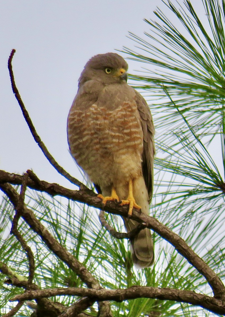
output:
[[[79,78],[79,87],[89,80],[101,81],[104,85],[127,81],[128,64],[116,53],[93,56],[84,66]]]

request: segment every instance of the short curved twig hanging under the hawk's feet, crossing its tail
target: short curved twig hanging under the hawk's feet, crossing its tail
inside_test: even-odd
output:
[[[110,235],[113,236],[116,239],[133,239],[142,229],[146,228],[146,225],[143,223],[140,223],[137,225],[137,227],[130,232],[118,232],[113,227],[107,223],[107,221],[104,218],[105,212],[103,210],[100,210],[99,213],[99,220],[102,226],[109,231]]]

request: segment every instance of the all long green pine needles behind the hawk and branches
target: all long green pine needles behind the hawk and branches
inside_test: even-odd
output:
[[[129,34],[136,49],[124,48],[129,59],[141,63],[140,74],[130,79],[148,100],[156,127],[150,215],[181,236],[224,281],[225,1],[162,2],[162,9],[155,11],[156,21],[145,20],[148,32],[143,38]],[[169,17],[163,5],[170,9]],[[205,14],[199,15],[198,6]],[[153,267],[136,270],[126,240],[112,237],[99,223],[94,208],[31,190],[26,191],[26,204],[105,288],[143,285],[212,295],[204,277],[155,233]],[[26,255],[10,235],[15,211],[6,197],[0,211],[0,261],[17,275],[28,276]],[[124,231],[119,217],[109,214],[107,221],[116,231]],[[22,220],[19,231],[34,253],[38,286],[85,287]],[[21,293],[5,280],[0,274],[1,314],[13,307],[10,298]],[[77,297],[51,299],[70,305]],[[214,315],[201,307],[146,298],[112,302],[111,308],[115,317]],[[16,316],[31,313],[23,305]],[[97,316],[95,306],[88,314]]]

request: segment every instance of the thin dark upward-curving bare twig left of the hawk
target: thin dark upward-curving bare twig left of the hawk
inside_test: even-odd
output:
[[[50,162],[50,164],[56,169],[56,171],[59,172],[59,174],[63,175],[65,178],[67,178],[71,183],[79,186],[80,188],[86,187],[83,183],[81,183],[78,179],[72,177],[67,171],[65,171],[63,169],[62,166],[60,166],[56,160],[53,158],[53,156],[50,154],[50,152],[48,151],[47,147],[44,145],[44,143],[42,142],[40,136],[37,134],[36,129],[30,119],[29,113],[27,112],[23,100],[21,99],[21,96],[19,94],[19,91],[17,89],[16,83],[15,83],[15,79],[14,79],[14,74],[13,74],[13,70],[12,70],[12,59],[13,56],[15,54],[16,50],[12,49],[11,54],[9,56],[8,59],[8,69],[9,69],[9,73],[10,73],[10,80],[11,80],[11,85],[12,85],[12,91],[18,101],[18,104],[22,110],[23,113],[23,117],[30,129],[30,132],[35,140],[35,142],[37,143],[37,145],[40,147],[40,149],[42,150],[44,156],[47,158],[47,160]]]

